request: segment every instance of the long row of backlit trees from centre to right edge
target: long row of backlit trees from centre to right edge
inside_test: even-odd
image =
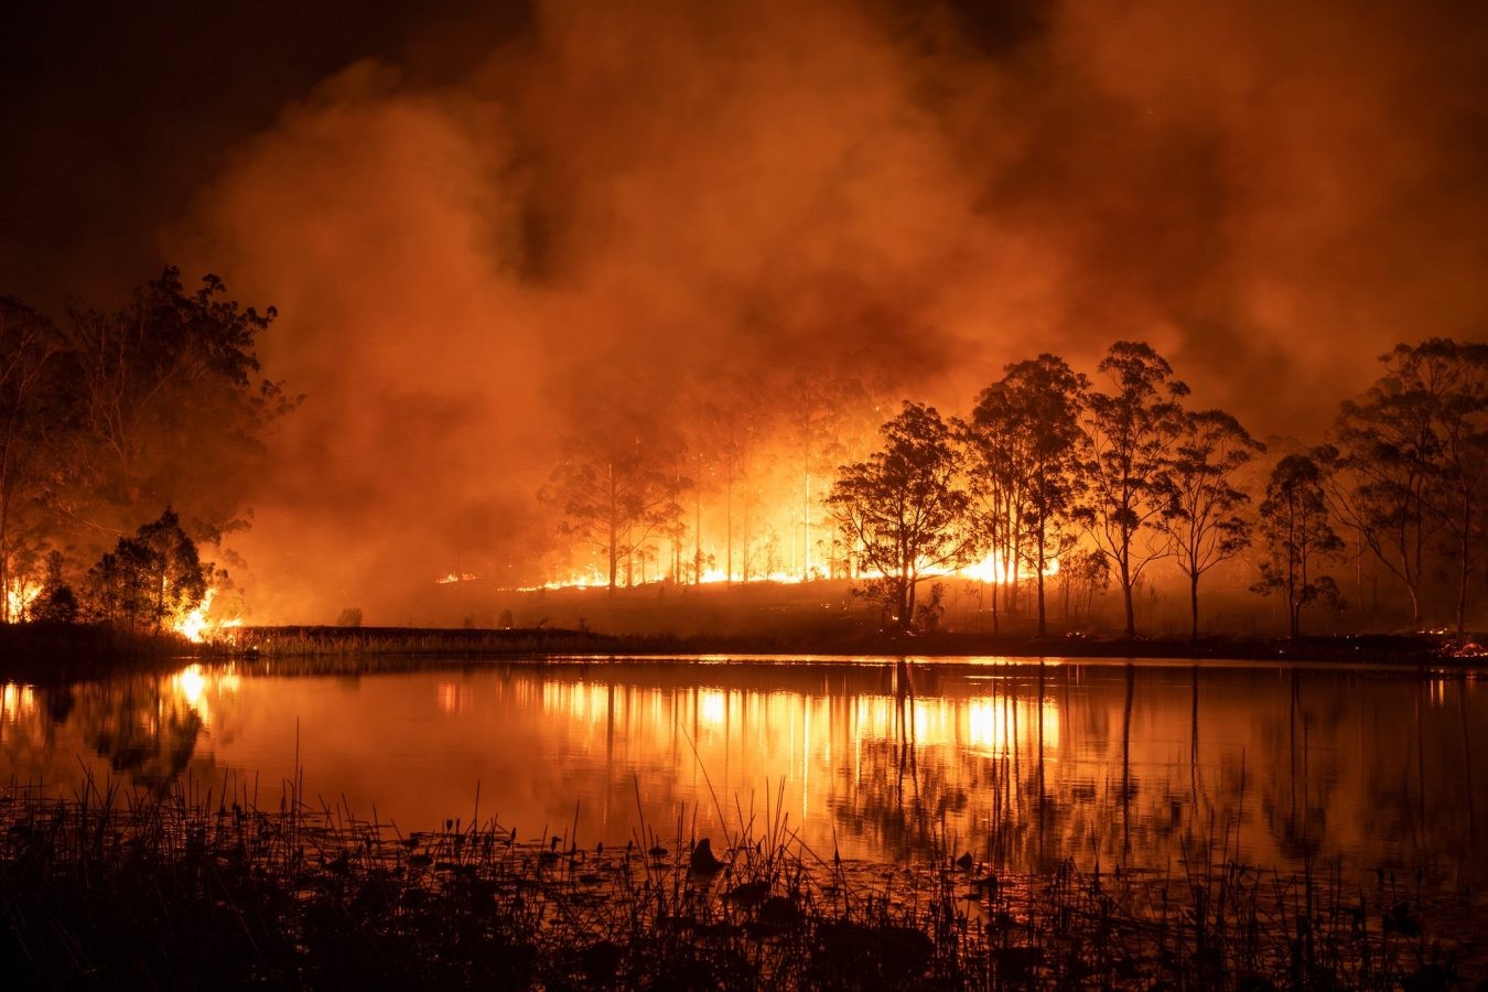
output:
[[[1046,580],[1058,573],[1067,593],[1115,582],[1125,632],[1135,635],[1134,593],[1168,561],[1187,586],[1198,637],[1201,580],[1245,555],[1250,587],[1281,598],[1296,637],[1305,610],[1344,605],[1326,570],[1353,556],[1362,589],[1367,553],[1399,582],[1417,629],[1428,613],[1449,613],[1461,635],[1488,550],[1488,345],[1436,338],[1402,344],[1381,363],[1381,378],[1341,406],[1323,445],[1286,445],[1262,479],[1265,445],[1234,415],[1192,406],[1150,345],[1113,344],[1097,382],[1042,354],[1006,366],[964,419],[905,402],[879,428],[878,448],[839,464],[827,485],[817,474],[815,492],[804,461],[796,526],[811,526],[818,501],[835,538],[823,555],[830,574],[856,579],[899,629],[933,625],[939,593],[931,587],[927,602],[923,583],[964,573],[994,583],[994,631],[1030,596],[1045,634]],[[704,482],[684,467],[720,464],[728,565],[714,577],[771,577],[751,574],[747,558],[741,576],[734,568],[745,427],[729,421],[711,454],[646,430],[610,437],[600,428],[554,471],[542,495],[562,512],[562,532],[597,549],[604,573],[595,584],[628,584],[634,558],[658,535],[673,549],[664,574],[702,582]],[[833,427],[820,449],[850,449],[841,436]]]

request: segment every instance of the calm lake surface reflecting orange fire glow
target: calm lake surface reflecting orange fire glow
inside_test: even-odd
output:
[[[936,837],[1015,867],[1306,854],[1488,891],[1488,687],[1214,665],[449,663],[359,677],[186,668],[3,687],[0,773],[625,843],[774,821],[824,855]]]

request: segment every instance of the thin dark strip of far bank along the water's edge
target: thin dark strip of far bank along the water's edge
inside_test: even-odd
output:
[[[171,634],[126,634],[85,625],[0,626],[0,677],[60,681],[174,662],[234,659],[446,659],[551,662],[708,662],[990,659],[1012,662],[1329,663],[1391,669],[1478,671],[1488,640],[1445,634],[1359,634],[1290,638],[1125,638],[1089,635],[933,634],[921,637],[613,635],[561,628],[335,628],[244,626],[231,641],[193,644]]]

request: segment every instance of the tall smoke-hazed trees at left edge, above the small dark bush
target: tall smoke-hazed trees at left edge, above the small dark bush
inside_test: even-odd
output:
[[[86,561],[141,504],[174,506],[193,540],[246,528],[271,427],[301,400],[259,378],[275,315],[214,275],[189,290],[174,268],[119,309],[57,323],[0,300],[0,586],[19,564],[37,587],[48,549]]]

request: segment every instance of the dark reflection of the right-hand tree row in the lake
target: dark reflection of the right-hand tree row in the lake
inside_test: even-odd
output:
[[[1039,668],[988,680],[990,693],[961,702],[967,733],[946,741],[933,711],[954,680],[900,668],[891,733],[859,741],[857,773],[839,776],[847,787],[830,803],[833,828],[896,858],[954,848],[1016,869],[1073,858],[1161,870],[1204,857],[1301,866],[1351,851],[1388,869],[1484,877],[1470,683],[1271,678],[1280,712],[1254,675]],[[1373,700],[1362,706],[1359,689]],[[1400,693],[1414,699],[1400,706]],[[1443,712],[1448,693],[1455,705]]]

